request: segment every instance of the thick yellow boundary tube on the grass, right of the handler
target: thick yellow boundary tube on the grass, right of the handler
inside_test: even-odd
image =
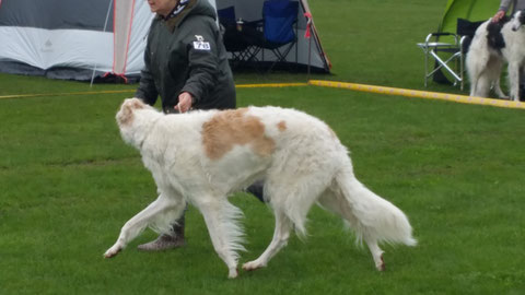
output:
[[[308,84],[315,85],[315,86],[347,88],[352,91],[372,92],[372,93],[380,93],[380,94],[387,94],[387,95],[419,97],[419,98],[428,98],[428,99],[442,99],[442,101],[448,101],[448,102],[455,102],[455,103],[462,103],[462,104],[474,104],[474,105],[525,109],[525,103],[521,103],[521,102],[472,97],[472,96],[466,96],[466,95],[459,95],[459,94],[404,90],[404,88],[395,88],[395,87],[383,87],[383,86],[322,81],[322,80],[311,80],[308,81]]]

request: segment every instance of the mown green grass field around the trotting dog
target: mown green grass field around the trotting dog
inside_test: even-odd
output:
[[[416,47],[435,30],[445,0],[311,0],[334,63],[357,83],[422,90]],[[240,74],[236,82],[305,81],[304,74]],[[314,208],[310,236],[255,272],[228,280],[196,209],[187,246],[160,253],[136,246],[104,260],[124,223],[155,199],[115,113],[137,85],[0,74],[0,294],[524,294],[525,113],[315,86],[238,88],[238,105],[305,110],[329,123],[351,151],[358,178],[407,213],[419,245],[384,246],[375,271],[365,247]],[[52,95],[129,90],[126,94]],[[430,84],[429,90],[454,92]],[[247,252],[269,244],[273,217],[237,193]]]

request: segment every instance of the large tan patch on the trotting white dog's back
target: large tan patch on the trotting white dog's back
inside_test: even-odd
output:
[[[252,144],[260,156],[270,155],[276,143],[265,134],[265,126],[254,116],[246,116],[247,108],[218,113],[202,125],[202,144],[211,160],[219,160],[236,144]]]

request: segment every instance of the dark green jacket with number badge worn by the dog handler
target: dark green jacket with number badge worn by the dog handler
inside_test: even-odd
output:
[[[192,108],[235,108],[235,85],[226,50],[207,0],[180,0],[182,12],[151,23],[144,69],[136,96],[154,105],[161,96],[165,113],[173,111],[182,92],[194,97]]]

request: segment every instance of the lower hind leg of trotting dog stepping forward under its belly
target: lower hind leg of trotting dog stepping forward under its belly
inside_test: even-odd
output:
[[[273,238],[271,239],[268,248],[254,261],[243,264],[243,269],[246,271],[256,270],[268,264],[268,261],[279,252],[288,244],[290,237],[290,231],[292,222],[282,211],[276,211],[276,228],[273,232]]]

